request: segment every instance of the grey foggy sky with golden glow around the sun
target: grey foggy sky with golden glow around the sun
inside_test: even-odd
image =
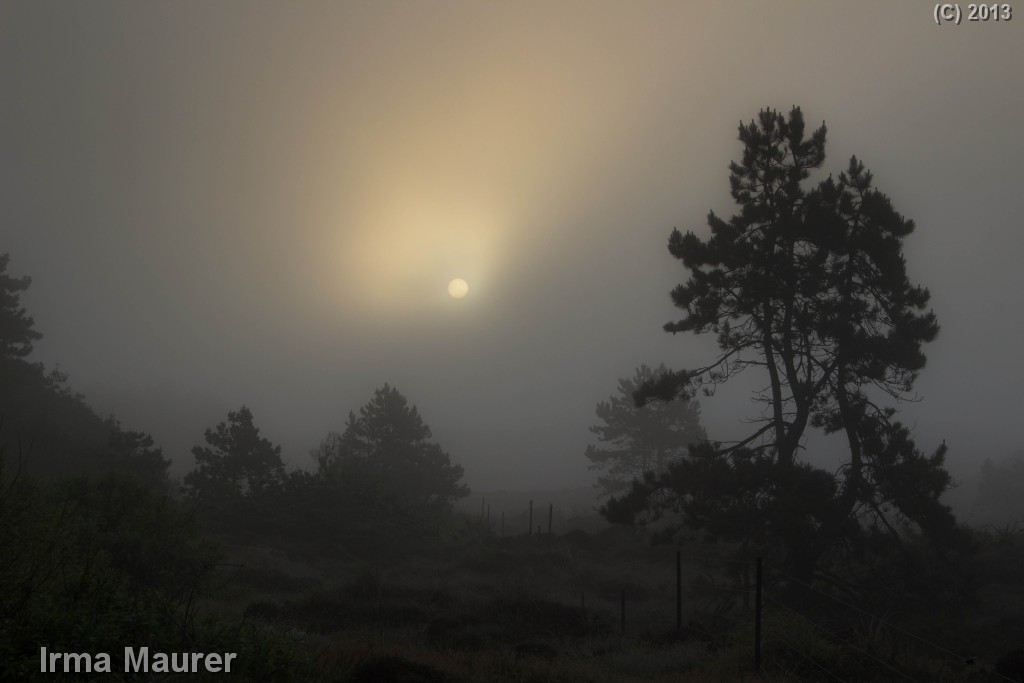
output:
[[[616,380],[715,350],[662,332],[670,231],[732,215],[737,125],[798,104],[825,172],[856,154],[918,223],[942,329],[902,411],[971,471],[1021,447],[1024,8],[932,6],[4,0],[0,253],[33,278],[32,357],[178,472],[242,403],[309,467],[389,382],[474,488],[589,483]],[[701,401],[713,438],[749,391]]]

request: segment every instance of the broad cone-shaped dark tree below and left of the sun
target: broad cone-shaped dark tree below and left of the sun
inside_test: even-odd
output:
[[[349,413],[340,436],[329,434],[321,444],[319,475],[359,482],[389,505],[447,508],[469,488],[461,483],[462,466],[430,438],[416,407],[385,384],[358,415]]]

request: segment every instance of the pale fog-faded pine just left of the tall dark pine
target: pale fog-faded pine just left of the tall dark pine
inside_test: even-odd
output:
[[[667,373],[665,366],[640,366],[632,378],[618,380],[618,392],[597,404],[601,424],[590,428],[606,447],[587,446],[590,469],[604,472],[596,486],[604,495],[621,494],[633,479],[660,473],[684,456],[691,443],[706,438],[700,405],[694,400],[655,401],[637,405],[633,394]]]

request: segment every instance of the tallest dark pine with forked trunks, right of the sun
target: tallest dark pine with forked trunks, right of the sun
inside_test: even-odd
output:
[[[662,477],[648,476],[609,502],[611,519],[639,510],[680,510],[687,523],[757,543],[781,542],[809,571],[829,550],[897,522],[937,539],[955,525],[938,501],[949,485],[945,446],[926,457],[881,399],[910,398],[925,366],[922,346],[938,324],[928,291],[912,286],[902,255],[913,222],[871,184],[852,158],[838,180],[806,189],[824,162],[825,127],[805,136],[804,118],[762,111],[740,124],[730,188],[739,212],[708,216],[711,236],[673,230],[670,253],[689,271],[672,292],[684,316],[673,334],[715,333],[709,365],[668,373],[638,392],[640,402],[689,397],[743,371],[763,373],[756,428],[737,441],[708,444]],[[810,427],[844,432],[839,472],[804,462]],[[717,498],[709,492],[720,494]]]

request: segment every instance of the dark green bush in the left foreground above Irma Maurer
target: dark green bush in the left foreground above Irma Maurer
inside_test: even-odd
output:
[[[215,556],[176,504],[125,477],[0,486],[0,680],[39,648],[180,651]],[[140,638],[144,642],[140,642]]]

